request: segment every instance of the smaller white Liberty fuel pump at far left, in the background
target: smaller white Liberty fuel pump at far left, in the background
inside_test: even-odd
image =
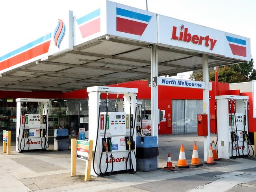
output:
[[[48,99],[16,99],[17,125],[16,125],[16,151],[48,148]],[[47,105],[46,113],[44,106]],[[26,109],[24,111],[24,107]]]

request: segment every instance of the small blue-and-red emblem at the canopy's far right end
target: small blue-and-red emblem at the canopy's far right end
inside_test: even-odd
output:
[[[246,41],[243,39],[238,39],[235,37],[230,37],[226,35],[228,40],[228,44],[232,51],[233,55],[238,55],[242,57],[246,57]]]

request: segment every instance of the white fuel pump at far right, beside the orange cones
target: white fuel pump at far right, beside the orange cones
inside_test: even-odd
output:
[[[245,145],[247,131],[247,106],[244,104],[248,96],[222,95],[217,100],[217,140],[218,157],[230,159],[247,156]],[[246,109],[245,109],[246,108]]]

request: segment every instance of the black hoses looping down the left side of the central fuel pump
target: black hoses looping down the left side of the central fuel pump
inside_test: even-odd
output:
[[[108,102],[109,102],[109,97],[108,97],[108,92],[107,92],[107,110],[106,110],[106,122],[105,122],[105,129],[104,129],[104,138],[103,138],[103,143],[102,143],[102,150],[101,150],[101,154],[100,154],[100,163],[99,163],[99,167],[100,167],[100,174],[101,176],[108,176],[112,173],[113,171],[113,161],[112,161],[112,169],[111,172],[109,172],[109,174],[106,175],[107,171],[108,171],[108,143],[106,142],[106,130],[107,130],[107,122],[108,122]],[[107,167],[104,173],[102,173],[101,171],[101,160],[102,160],[102,155],[104,152],[104,147],[106,150],[106,161],[107,161]],[[111,157],[112,159],[112,157]]]

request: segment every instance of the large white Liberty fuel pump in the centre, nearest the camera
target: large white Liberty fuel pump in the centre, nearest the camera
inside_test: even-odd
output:
[[[87,88],[87,92],[89,93],[89,140],[96,141],[93,146],[91,175],[108,176],[112,172],[126,171],[126,162],[128,162],[128,172],[135,173],[137,163],[133,138],[136,137],[134,114],[137,89],[95,86]],[[103,94],[107,97],[106,112],[100,112]],[[109,111],[109,94],[124,94],[123,109],[117,112],[117,96],[115,110]]]

